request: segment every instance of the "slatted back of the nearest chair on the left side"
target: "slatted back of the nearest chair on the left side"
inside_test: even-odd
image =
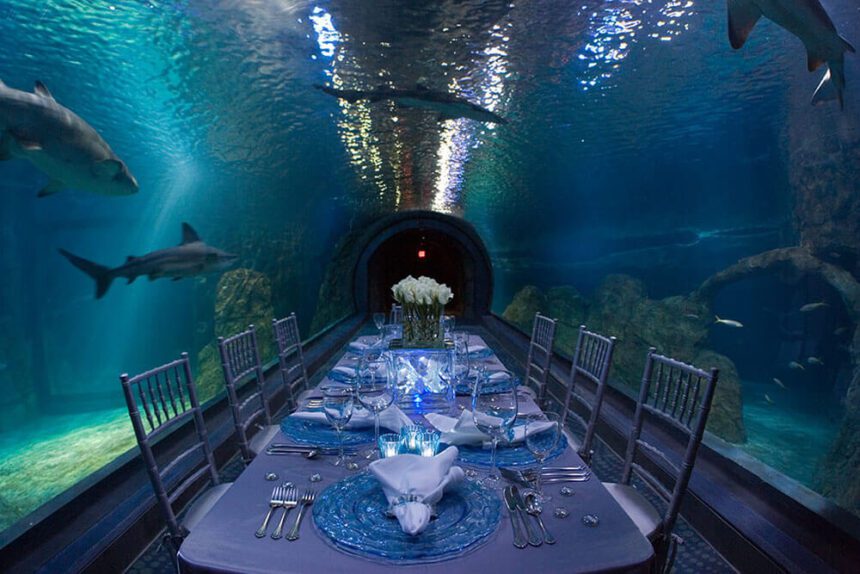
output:
[[[133,377],[124,373],[120,382],[134,436],[161,514],[167,522],[170,542],[178,549],[188,532],[179,525],[173,503],[202,477],[207,477],[213,485],[220,483],[203,413],[197,402],[188,353]],[[197,431],[194,443],[162,468],[156,461],[153,445],[188,420],[194,421]],[[184,478],[176,476],[186,464],[194,464],[194,472]]]

